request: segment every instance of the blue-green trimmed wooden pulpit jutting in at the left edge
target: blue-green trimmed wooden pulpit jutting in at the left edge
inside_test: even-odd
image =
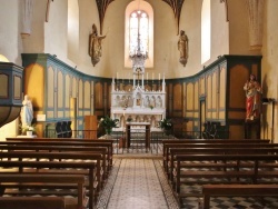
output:
[[[23,68],[0,62],[0,128],[17,119],[22,107]]]

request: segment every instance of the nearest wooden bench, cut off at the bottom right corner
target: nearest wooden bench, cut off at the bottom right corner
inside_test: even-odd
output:
[[[210,197],[272,197],[278,196],[278,185],[205,185],[203,209],[209,209]]]

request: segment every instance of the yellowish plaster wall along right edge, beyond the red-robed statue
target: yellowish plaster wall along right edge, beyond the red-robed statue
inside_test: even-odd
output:
[[[278,1],[266,0],[264,12],[264,36],[262,36],[262,62],[261,62],[261,86],[262,97],[274,98],[278,100],[278,86],[277,86],[277,57],[278,57],[278,16],[277,16]],[[277,128],[277,102],[275,104],[274,115],[274,142],[278,142],[278,128]],[[271,139],[272,130],[272,107],[271,104],[264,106],[262,111],[264,127],[262,137]]]

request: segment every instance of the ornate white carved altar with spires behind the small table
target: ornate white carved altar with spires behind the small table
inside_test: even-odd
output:
[[[160,130],[158,122],[166,117],[165,78],[161,81],[162,90],[146,90],[135,84],[129,91],[118,90],[115,80],[111,92],[111,118],[119,119],[120,126],[115,131],[125,131],[127,121],[149,122],[151,131]],[[143,83],[143,81],[141,81]]]

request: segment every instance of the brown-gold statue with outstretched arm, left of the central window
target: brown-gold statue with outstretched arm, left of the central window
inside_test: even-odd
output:
[[[95,67],[101,57],[101,41],[106,36],[98,36],[98,29],[96,24],[92,24],[92,32],[89,37],[89,56],[91,57],[91,63]]]

